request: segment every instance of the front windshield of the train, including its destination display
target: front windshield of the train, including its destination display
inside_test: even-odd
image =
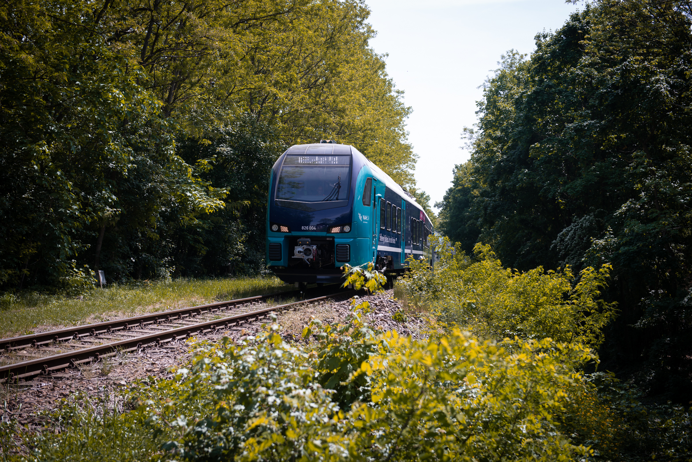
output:
[[[276,198],[298,202],[345,201],[350,181],[351,156],[286,155]]]

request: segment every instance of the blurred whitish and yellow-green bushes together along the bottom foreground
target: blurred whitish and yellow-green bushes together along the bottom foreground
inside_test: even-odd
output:
[[[565,389],[579,381],[574,364],[591,360],[589,349],[551,340],[493,344],[458,329],[420,341],[391,332],[325,342],[347,353],[374,341],[370,358],[342,384],[363,377],[372,398],[340,407],[320,380],[320,356],[331,353],[287,344],[279,329],[271,324],[241,344],[201,345],[179,396],[144,402],[152,425],[179,434],[165,445],[175,458],[559,461],[588,454],[558,431],[558,419]],[[181,415],[178,400],[200,399],[203,414]]]

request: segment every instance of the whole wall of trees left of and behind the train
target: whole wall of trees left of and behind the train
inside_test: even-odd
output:
[[[257,272],[268,169],[352,144],[413,187],[358,0],[0,6],[0,286]],[[84,268],[84,265],[90,268]]]

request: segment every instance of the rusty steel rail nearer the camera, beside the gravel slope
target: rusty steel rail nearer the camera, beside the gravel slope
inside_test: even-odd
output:
[[[33,376],[38,376],[39,374],[44,376],[52,376],[53,372],[55,371],[76,368],[80,364],[92,362],[93,360],[99,361],[101,358],[104,358],[109,355],[114,355],[119,352],[127,353],[129,351],[140,350],[146,347],[151,347],[152,344],[160,346],[164,343],[179,340],[179,338],[188,338],[192,335],[199,335],[210,331],[217,331],[217,329],[219,329],[221,326],[223,326],[224,329],[227,329],[231,324],[234,323],[235,325],[239,326],[242,322],[246,320],[249,320],[253,317],[259,320],[260,317],[264,317],[272,313],[273,311],[283,311],[284,309],[294,305],[318,302],[319,300],[324,300],[327,298],[336,297],[338,295],[346,295],[352,293],[355,293],[355,291],[347,290],[341,293],[324,295],[322,297],[316,297],[313,299],[301,300],[300,302],[291,302],[283,305],[272,306],[270,308],[264,308],[262,310],[252,311],[250,313],[242,313],[239,315],[223,317],[217,320],[200,322],[198,324],[192,324],[190,326],[178,327],[167,331],[154,332],[146,335],[141,335],[140,337],[119,340],[118,342],[100,344],[95,347],[89,347],[75,351],[67,351],[66,353],[46,356],[45,358],[37,358],[35,360],[17,362],[15,364],[8,364],[7,366],[0,367],[0,383],[7,381],[19,382],[20,379],[26,380]]]

